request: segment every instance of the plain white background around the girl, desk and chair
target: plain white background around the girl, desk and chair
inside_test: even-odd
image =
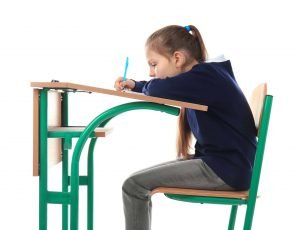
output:
[[[232,61],[246,96],[260,82],[274,95],[253,229],[300,229],[299,11],[296,1],[1,1],[0,229],[38,229],[38,178],[32,177],[31,81],[70,81],[112,88],[123,74],[148,79],[144,42],[169,24],[193,24],[211,57]],[[104,95],[70,96],[70,124],[86,125],[128,102]],[[176,118],[132,112],[113,120],[96,146],[95,229],[124,229],[121,186],[132,172],[175,158]],[[75,143],[73,143],[75,144]],[[82,170],[85,158],[81,159]],[[60,166],[50,171],[58,190]],[[80,226],[85,227],[85,190]],[[242,229],[245,209],[239,209]],[[49,229],[61,209],[49,205]],[[229,207],[153,197],[153,229],[227,229]]]

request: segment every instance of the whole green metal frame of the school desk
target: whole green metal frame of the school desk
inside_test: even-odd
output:
[[[90,122],[83,132],[54,132],[48,130],[48,91],[51,88],[39,90],[39,230],[47,229],[48,204],[62,205],[62,229],[78,229],[79,186],[87,186],[87,229],[93,229],[93,188],[94,188],[94,147],[97,138],[93,132],[97,127],[105,127],[114,117],[132,110],[155,110],[171,115],[178,115],[180,109],[153,102],[131,102],[122,104],[101,113]],[[56,88],[57,89],[57,88]],[[68,126],[68,90],[62,91],[62,126]],[[71,159],[71,174],[68,175],[69,149],[72,138],[79,138]],[[62,139],[62,191],[48,190],[48,138]],[[87,175],[79,175],[79,161],[84,145],[90,139],[88,148]],[[70,213],[69,213],[70,207]]]

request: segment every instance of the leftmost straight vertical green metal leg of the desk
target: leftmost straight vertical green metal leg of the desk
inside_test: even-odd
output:
[[[47,185],[48,185],[48,144],[47,144],[47,107],[48,107],[48,91],[43,89],[40,91],[40,181],[39,181],[39,229],[47,229]]]

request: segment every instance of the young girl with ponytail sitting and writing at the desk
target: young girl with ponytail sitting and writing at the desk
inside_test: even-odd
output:
[[[202,37],[195,26],[167,26],[146,42],[153,79],[115,82],[149,96],[198,103],[208,111],[182,109],[177,138],[178,160],[131,175],[123,185],[127,230],[151,228],[151,190],[180,187],[246,190],[250,186],[256,150],[256,129],[230,61],[207,62]],[[191,137],[196,139],[189,154]]]

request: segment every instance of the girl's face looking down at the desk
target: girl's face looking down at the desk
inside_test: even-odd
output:
[[[174,77],[181,73],[181,68],[176,65],[175,57],[167,58],[146,47],[146,58],[150,67],[149,75],[155,78]]]

